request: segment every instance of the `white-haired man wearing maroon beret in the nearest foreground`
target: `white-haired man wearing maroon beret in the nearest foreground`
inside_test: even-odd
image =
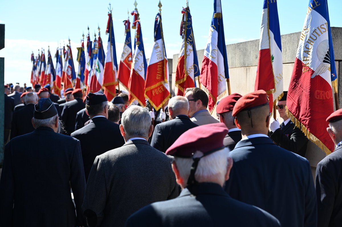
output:
[[[174,156],[172,168],[184,188],[180,196],[140,209],[126,226],[280,226],[271,214],[232,199],[223,190],[233,166],[223,145],[227,132],[223,123],[217,123],[183,133],[166,152]]]

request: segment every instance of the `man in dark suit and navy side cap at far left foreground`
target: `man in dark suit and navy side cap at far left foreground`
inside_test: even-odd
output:
[[[84,226],[86,181],[80,142],[58,133],[60,122],[50,99],[39,100],[31,122],[35,131],[5,146],[0,226]]]

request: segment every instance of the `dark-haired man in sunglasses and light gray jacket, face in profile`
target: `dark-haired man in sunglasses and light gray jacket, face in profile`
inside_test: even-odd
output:
[[[209,99],[205,91],[198,87],[189,87],[185,89],[184,97],[189,100],[189,116],[193,123],[196,125],[219,123],[207,110]]]

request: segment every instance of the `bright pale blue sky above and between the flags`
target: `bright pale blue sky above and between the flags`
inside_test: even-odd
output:
[[[318,0],[320,1],[320,0]],[[54,54],[57,43],[71,40],[73,55],[80,46],[82,33],[87,35],[90,27],[91,39],[101,28],[101,37],[106,48],[108,36],[105,34],[108,20],[108,1],[2,1],[0,23],[5,24],[5,48],[0,57],[5,57],[5,83],[29,84],[31,73],[31,52],[37,55],[44,48],[47,56],[48,45]],[[134,9],[134,0],[111,1],[116,52],[120,60],[124,43],[124,26],[127,11]],[[146,58],[150,57],[153,46],[154,19],[158,13],[159,0],[137,0],[140,13]],[[162,23],[166,51],[169,58],[178,54],[181,47],[179,35],[181,10],[185,0],[163,0]],[[226,44],[244,42],[260,37],[260,23],[263,0],[222,0]],[[307,0],[279,0],[278,14],[280,33],[301,31],[307,10]],[[330,24],[342,27],[339,0],[328,0]],[[197,49],[204,49],[213,13],[213,0],[189,0],[193,17],[193,29]],[[132,22],[133,16],[130,15]],[[134,30],[131,30],[132,39]],[[86,38],[86,37],[85,37]],[[78,63],[75,61],[75,67]],[[54,61],[55,62],[55,61]],[[229,62],[228,62],[229,65]]]

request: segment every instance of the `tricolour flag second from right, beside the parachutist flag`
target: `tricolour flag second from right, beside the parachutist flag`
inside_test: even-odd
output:
[[[264,0],[257,77],[255,90],[265,90],[269,95],[270,112],[283,96],[282,54],[277,1]]]

